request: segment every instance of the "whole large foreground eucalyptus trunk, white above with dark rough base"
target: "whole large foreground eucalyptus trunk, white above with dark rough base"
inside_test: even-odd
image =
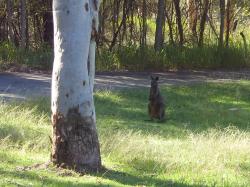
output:
[[[98,0],[53,0],[52,162],[101,168],[93,100]]]

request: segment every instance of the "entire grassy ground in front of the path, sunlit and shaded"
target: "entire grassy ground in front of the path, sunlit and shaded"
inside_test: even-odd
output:
[[[147,121],[147,89],[95,94],[104,173],[49,160],[49,100],[0,105],[0,186],[250,186],[250,81],[164,86],[164,123]],[[20,169],[21,168],[21,169]]]

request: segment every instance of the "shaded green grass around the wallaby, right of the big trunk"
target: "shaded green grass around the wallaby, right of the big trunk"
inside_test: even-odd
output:
[[[235,126],[249,131],[250,88],[240,83],[170,86],[162,88],[167,120],[147,121],[148,89],[115,91],[96,99],[100,127],[133,129],[164,137],[182,137],[188,131]],[[117,100],[112,100],[115,95]]]

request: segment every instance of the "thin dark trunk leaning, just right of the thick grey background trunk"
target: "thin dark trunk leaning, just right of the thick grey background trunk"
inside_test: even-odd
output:
[[[179,32],[179,45],[183,46],[184,34],[183,34],[183,26],[182,26],[182,19],[181,19],[180,0],[174,0],[174,7],[175,7],[175,13],[176,13],[176,22],[177,22],[178,32]]]

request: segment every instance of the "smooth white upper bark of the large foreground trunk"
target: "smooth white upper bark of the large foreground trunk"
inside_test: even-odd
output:
[[[94,104],[87,60],[91,37],[88,0],[55,0],[52,112],[66,116],[79,107],[82,117],[93,117]]]

